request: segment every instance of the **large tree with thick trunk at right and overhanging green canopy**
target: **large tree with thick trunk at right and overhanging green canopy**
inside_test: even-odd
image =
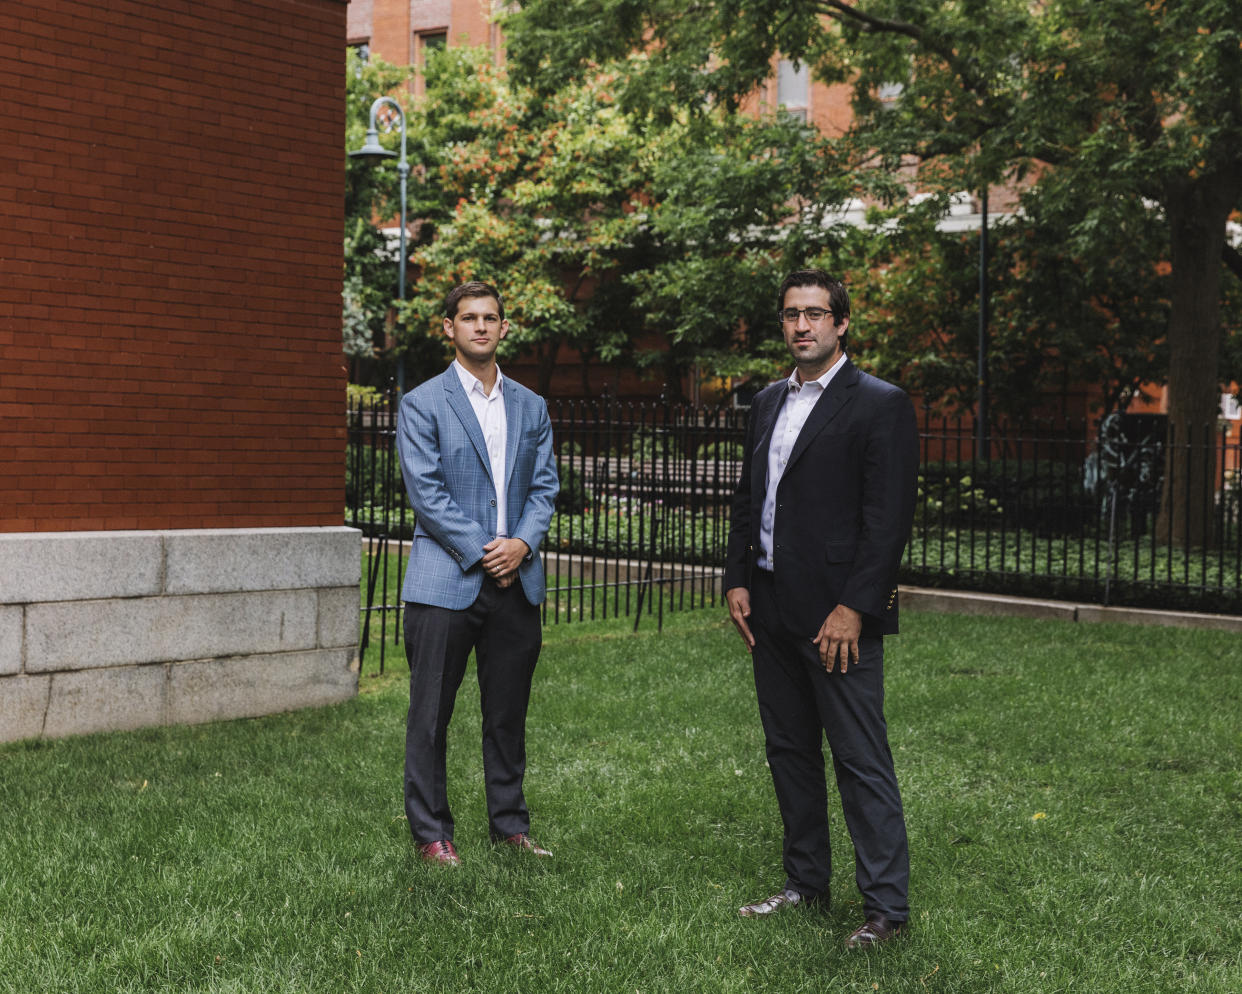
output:
[[[904,194],[1005,181],[1089,191],[1071,235],[1098,255],[1149,201],[1167,246],[1170,437],[1213,424],[1226,221],[1242,198],[1242,31],[1232,0],[527,0],[509,57],[540,87],[626,51],[650,52],[626,106],[704,94],[737,107],[777,53],[853,87],[842,140],[856,169]],[[883,84],[902,96],[878,98]],[[903,171],[905,170],[905,171]],[[872,189],[882,189],[878,183]],[[1049,188],[1051,189],[1051,188]],[[1150,272],[1150,266],[1146,268]],[[1098,294],[1092,288],[1092,304]],[[1135,302],[1141,306],[1141,299]],[[1160,531],[1211,536],[1210,450],[1169,446]],[[1171,486],[1172,481],[1177,486]]]

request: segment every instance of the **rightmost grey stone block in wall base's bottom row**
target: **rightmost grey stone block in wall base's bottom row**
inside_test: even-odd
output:
[[[179,662],[170,667],[168,719],[253,718],[345,701],[358,692],[351,663],[348,649]]]

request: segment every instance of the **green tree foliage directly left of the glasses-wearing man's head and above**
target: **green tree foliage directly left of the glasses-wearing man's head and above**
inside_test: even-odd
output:
[[[650,224],[666,258],[628,277],[637,303],[684,362],[715,375],[780,375],[775,291],[841,241],[847,170],[817,132],[780,113],[704,114],[660,138]]]

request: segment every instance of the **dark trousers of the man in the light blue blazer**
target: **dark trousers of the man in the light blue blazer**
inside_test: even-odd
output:
[[[405,814],[416,842],[453,837],[445,744],[471,650],[483,712],[483,782],[488,830],[504,839],[530,830],[522,793],[527,772],[527,706],[543,642],[539,609],[520,584],[483,580],[461,611],[406,604],[405,655],[410,711],[405,726]]]

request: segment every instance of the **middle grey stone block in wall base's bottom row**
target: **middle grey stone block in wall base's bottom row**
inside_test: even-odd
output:
[[[43,734],[84,736],[163,724],[166,666],[117,666],[52,676]]]

